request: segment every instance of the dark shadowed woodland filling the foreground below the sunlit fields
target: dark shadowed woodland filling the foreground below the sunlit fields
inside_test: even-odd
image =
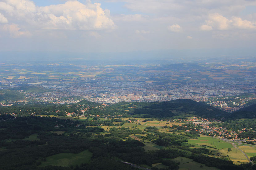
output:
[[[230,160],[217,159],[207,156],[209,150],[206,148],[193,149],[187,144],[187,136],[156,132],[156,129],[147,128],[146,131],[134,128],[111,128],[109,133],[99,127],[86,127],[88,122],[83,121],[81,126],[76,127],[78,121],[64,120],[49,117],[17,117],[10,115],[0,116],[0,164],[1,170],[8,169],[134,169],[123,164],[121,160],[134,164],[146,164],[162,162],[169,169],[178,169],[178,164],[165,160],[183,156],[191,158],[199,163],[222,170],[228,169],[253,169],[251,164],[234,165]],[[79,122],[81,123],[81,122]],[[56,128],[58,125],[58,128]],[[55,131],[64,131],[58,135]],[[130,134],[148,133],[145,140],[149,140],[163,146],[155,151],[145,151],[144,144],[138,140],[128,138]],[[37,134],[39,140],[26,140],[32,134]],[[58,153],[79,153],[88,149],[92,152],[91,161],[76,167],[40,167],[47,156]]]

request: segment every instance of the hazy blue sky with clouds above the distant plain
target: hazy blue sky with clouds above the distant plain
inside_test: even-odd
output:
[[[255,40],[256,0],[0,0],[0,52],[254,55]]]

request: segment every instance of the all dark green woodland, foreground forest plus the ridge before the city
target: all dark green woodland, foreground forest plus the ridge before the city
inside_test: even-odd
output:
[[[56,117],[39,117],[36,115],[65,116],[66,113],[81,115],[81,109],[87,108],[88,117],[84,121],[76,119],[59,119]],[[250,109],[250,108],[249,108]],[[123,164],[121,161],[133,164],[145,164],[151,166],[162,163],[168,169],[178,169],[178,164],[168,160],[178,156],[191,158],[196,162],[209,167],[217,167],[221,170],[253,170],[256,166],[251,164],[234,165],[232,161],[210,157],[207,148],[190,148],[186,143],[188,139],[196,139],[198,131],[186,132],[188,126],[173,125],[164,128],[172,128],[173,133],[159,132],[157,127],[147,127],[143,131],[137,126],[113,127],[106,132],[99,125],[121,126],[129,121],[120,119],[123,117],[148,117],[164,119],[188,117],[191,115],[224,118],[223,123],[213,123],[210,126],[222,126],[229,129],[243,129],[256,127],[254,120],[227,119],[228,113],[214,109],[209,105],[191,100],[176,100],[169,102],[151,103],[127,103],[104,106],[101,104],[81,101],[72,105],[17,105],[12,107],[0,107],[0,170],[34,169],[34,170],[91,170],[91,169],[135,169],[136,167]],[[7,114],[6,114],[7,113]],[[10,114],[17,116],[11,116]],[[99,119],[89,115],[114,116],[114,119]],[[119,115],[119,116],[118,116]],[[209,116],[211,115],[211,116]],[[135,121],[134,119],[133,121]],[[118,122],[118,123],[115,123]],[[98,127],[88,127],[88,126]],[[197,125],[191,124],[197,128]],[[173,129],[175,128],[175,130]],[[63,132],[58,134],[57,132]],[[177,135],[176,132],[183,132]],[[134,140],[130,135],[146,134],[141,136],[142,141],[155,143],[159,150],[145,151],[142,141]],[[37,140],[27,140],[29,136],[36,135]],[[256,137],[255,133],[246,132],[239,134],[241,137]],[[88,150],[92,153],[91,160],[75,167],[40,167],[46,157],[58,153],[80,153]],[[254,160],[254,158],[252,158]],[[158,168],[152,168],[158,169]]]

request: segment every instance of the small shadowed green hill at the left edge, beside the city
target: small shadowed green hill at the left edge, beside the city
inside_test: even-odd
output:
[[[9,89],[0,89],[0,102],[23,100],[24,95]]]

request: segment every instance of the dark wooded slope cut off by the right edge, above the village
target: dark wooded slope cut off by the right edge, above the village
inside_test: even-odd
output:
[[[248,107],[245,107],[233,112],[231,118],[236,118],[236,119],[256,118],[256,104],[250,105]]]

